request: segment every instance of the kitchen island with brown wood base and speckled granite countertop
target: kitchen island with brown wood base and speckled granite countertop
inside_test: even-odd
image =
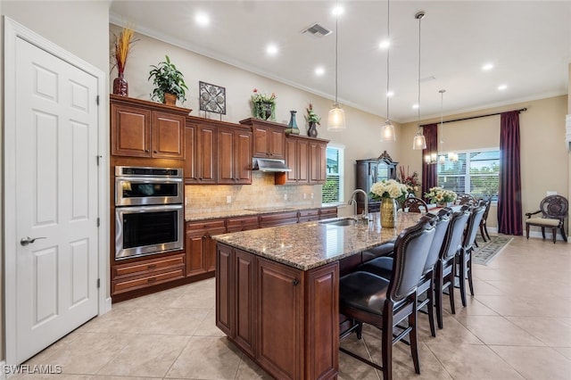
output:
[[[332,219],[216,235],[216,325],[270,375],[336,378],[340,261],[393,240],[396,228]],[[333,223],[331,223],[333,222]]]

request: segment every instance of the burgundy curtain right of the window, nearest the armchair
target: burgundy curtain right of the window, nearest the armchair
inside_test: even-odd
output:
[[[519,112],[501,113],[498,232],[523,235],[519,171]]]

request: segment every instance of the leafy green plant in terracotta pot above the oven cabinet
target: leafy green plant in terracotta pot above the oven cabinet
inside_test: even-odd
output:
[[[186,87],[182,72],[170,62],[169,55],[165,55],[165,61],[159,62],[157,66],[151,65],[151,67],[153,70],[149,71],[148,79],[153,78],[154,89],[151,98],[169,105],[175,105],[177,99],[181,103],[185,102],[185,90],[188,87]]]

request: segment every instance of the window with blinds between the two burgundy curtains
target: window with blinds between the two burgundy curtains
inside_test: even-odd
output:
[[[492,197],[498,201],[500,151],[478,150],[458,153],[458,161],[438,165],[438,186],[457,194]]]

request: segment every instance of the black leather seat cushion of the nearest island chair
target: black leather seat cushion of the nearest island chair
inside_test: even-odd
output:
[[[367,272],[356,271],[339,280],[341,307],[350,307],[383,316],[389,280]]]

